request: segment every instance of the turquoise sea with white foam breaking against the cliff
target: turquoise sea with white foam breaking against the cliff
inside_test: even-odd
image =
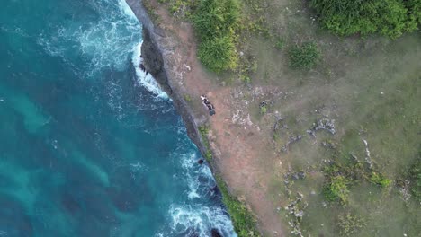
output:
[[[0,236],[236,236],[118,0],[0,8]],[[134,64],[133,64],[134,62]]]

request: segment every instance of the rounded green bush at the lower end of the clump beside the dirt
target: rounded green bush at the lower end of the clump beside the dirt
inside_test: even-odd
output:
[[[228,36],[203,41],[198,56],[204,66],[216,73],[237,67],[236,46]]]

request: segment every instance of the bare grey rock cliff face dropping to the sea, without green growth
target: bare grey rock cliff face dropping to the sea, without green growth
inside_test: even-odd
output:
[[[198,127],[201,126],[205,119],[195,118],[189,105],[184,101],[183,93],[175,85],[176,80],[171,80],[172,76],[177,76],[177,72],[171,65],[172,62],[165,55],[171,55],[172,52],[167,48],[174,48],[175,40],[170,36],[166,36],[164,31],[159,29],[148,17],[146,9],[139,0],[126,0],[133,13],[138,17],[143,25],[143,44],[141,53],[143,63],[146,70],[154,76],[157,83],[173,100],[175,109],[183,118],[184,125],[187,129],[188,136],[193,143],[199,148],[201,154],[206,154],[206,146],[202,141]],[[166,46],[166,47],[163,47]],[[169,69],[171,68],[171,69]],[[210,167],[212,170],[214,165]]]

